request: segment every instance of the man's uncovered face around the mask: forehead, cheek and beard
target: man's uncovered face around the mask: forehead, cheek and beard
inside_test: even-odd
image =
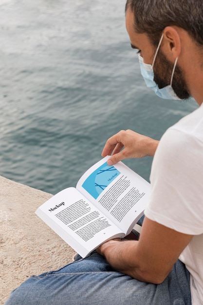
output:
[[[146,34],[137,34],[134,31],[134,16],[130,9],[126,13],[126,28],[132,48],[139,50],[145,63],[152,64],[156,48],[152,45]],[[160,48],[153,67],[154,81],[159,89],[170,84],[173,66],[174,63],[167,60]],[[184,73],[178,64],[173,75],[172,87],[179,98],[187,99],[190,97]]]

